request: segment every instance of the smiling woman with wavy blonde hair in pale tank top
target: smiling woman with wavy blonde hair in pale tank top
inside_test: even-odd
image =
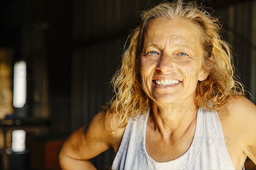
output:
[[[242,169],[256,163],[256,108],[233,75],[218,20],[194,3],[142,14],[114,74],[115,96],[59,158],[63,169],[113,147],[112,169]],[[102,142],[96,142],[101,140]]]

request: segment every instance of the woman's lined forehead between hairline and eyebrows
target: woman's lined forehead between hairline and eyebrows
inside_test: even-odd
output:
[[[201,45],[201,28],[189,20],[157,18],[148,23],[145,42],[169,40],[172,44]]]

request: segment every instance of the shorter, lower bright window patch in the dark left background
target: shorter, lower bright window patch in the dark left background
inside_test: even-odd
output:
[[[26,149],[26,132],[25,130],[12,131],[12,151],[24,152]]]

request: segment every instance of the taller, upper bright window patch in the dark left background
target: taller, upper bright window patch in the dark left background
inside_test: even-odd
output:
[[[13,73],[13,106],[22,108],[26,104],[26,62],[14,64]]]

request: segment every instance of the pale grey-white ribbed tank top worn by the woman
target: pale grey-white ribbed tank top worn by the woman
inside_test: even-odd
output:
[[[216,111],[199,108],[195,135],[191,139],[178,140],[189,144],[189,149],[179,158],[168,162],[154,161],[145,149],[145,131],[148,113],[129,120],[121,145],[112,164],[113,170],[234,170],[227,152],[229,138],[223,136]]]

